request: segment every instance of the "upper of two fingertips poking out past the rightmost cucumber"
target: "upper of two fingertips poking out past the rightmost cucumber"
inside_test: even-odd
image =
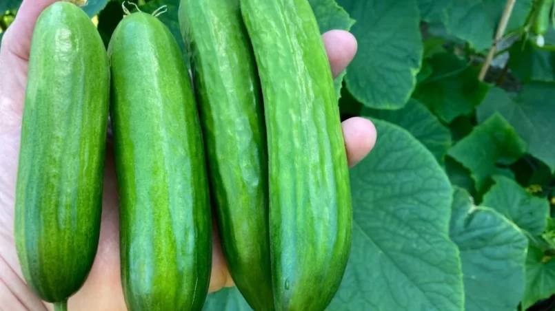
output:
[[[343,30],[330,30],[323,34],[322,39],[335,78],[351,63],[358,45],[354,36]]]

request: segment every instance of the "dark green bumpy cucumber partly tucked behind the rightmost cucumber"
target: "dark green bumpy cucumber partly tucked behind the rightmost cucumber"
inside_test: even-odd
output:
[[[192,72],[223,253],[254,310],[272,310],[268,156],[256,61],[239,0],[183,0]]]

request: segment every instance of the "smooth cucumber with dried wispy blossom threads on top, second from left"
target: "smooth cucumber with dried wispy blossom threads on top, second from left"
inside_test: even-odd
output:
[[[212,223],[188,70],[168,28],[142,12],[119,23],[108,55],[125,302],[130,310],[201,310]]]

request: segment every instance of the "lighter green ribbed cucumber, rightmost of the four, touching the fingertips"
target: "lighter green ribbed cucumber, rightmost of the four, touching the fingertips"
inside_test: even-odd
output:
[[[352,237],[350,182],[334,81],[306,0],[241,0],[268,137],[276,310],[323,310]]]

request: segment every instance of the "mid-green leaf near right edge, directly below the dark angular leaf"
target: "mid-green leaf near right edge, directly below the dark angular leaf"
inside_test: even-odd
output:
[[[541,235],[549,217],[549,202],[527,193],[514,180],[503,176],[495,176],[494,180],[482,205],[494,208],[531,235]]]

